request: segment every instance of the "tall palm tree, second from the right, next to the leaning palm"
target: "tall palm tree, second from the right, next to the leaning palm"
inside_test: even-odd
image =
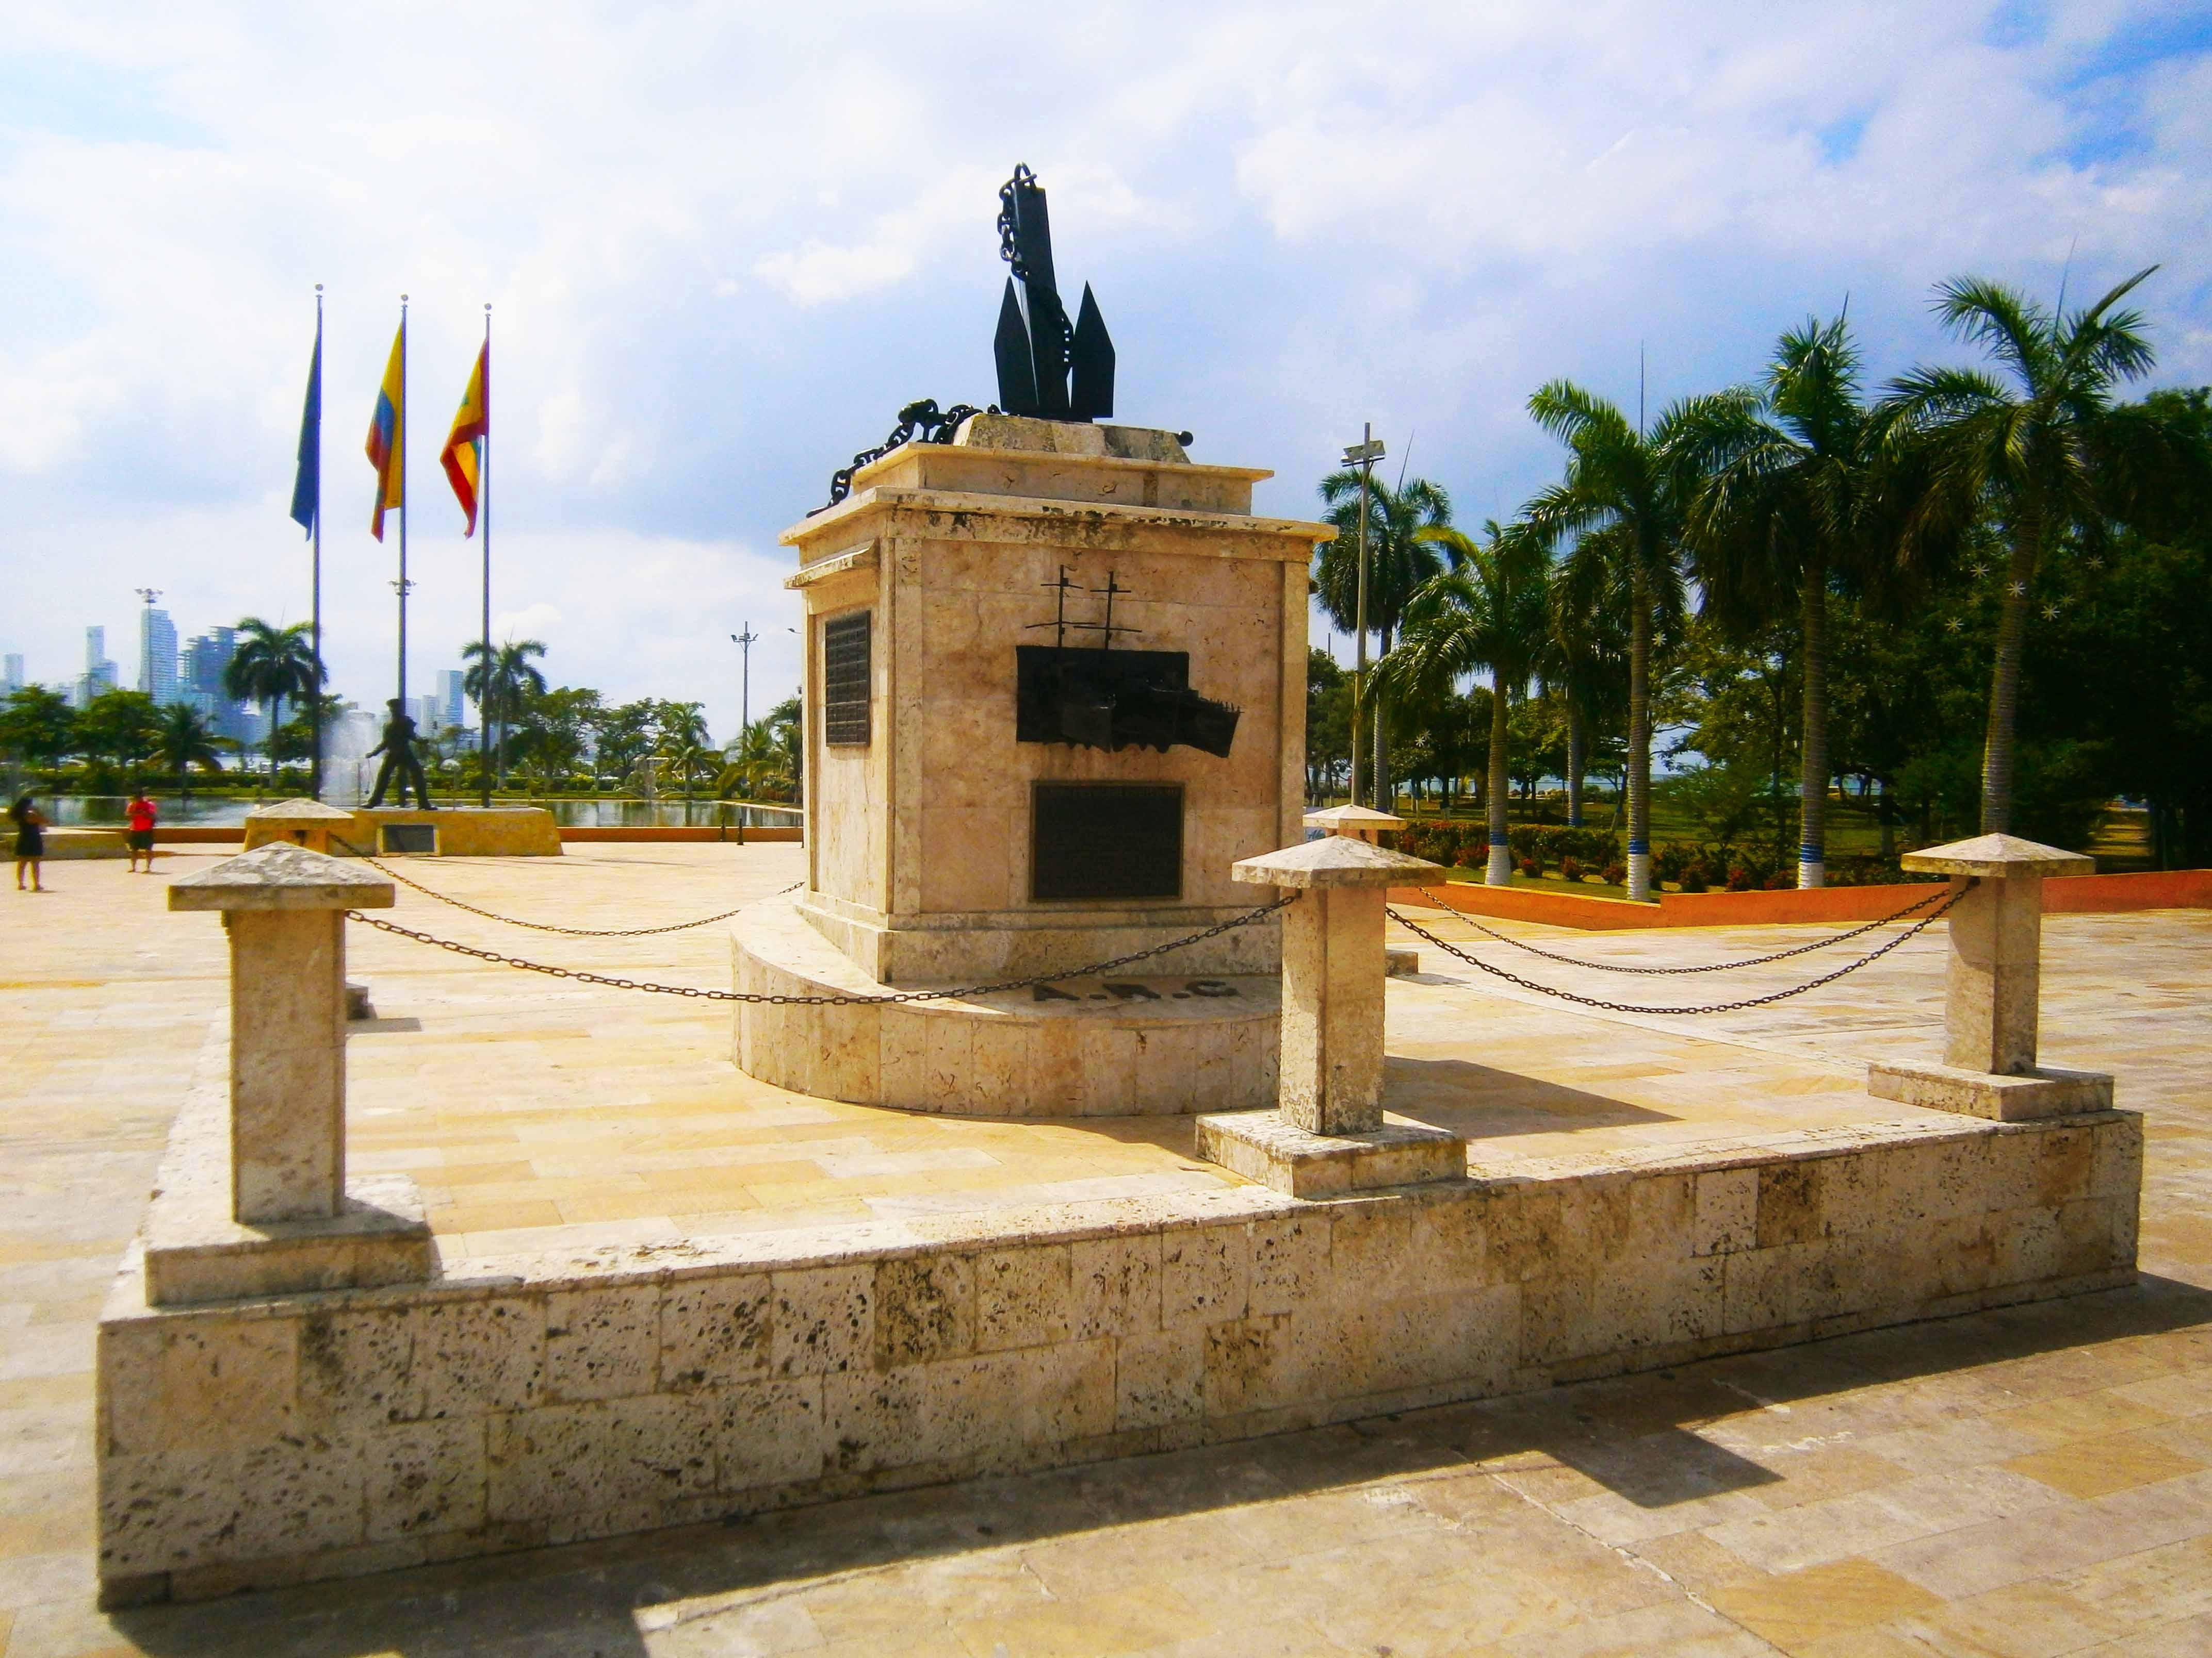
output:
[[[1710,469],[1688,522],[1701,608],[1736,639],[1796,610],[1798,886],[1827,878],[1829,586],[1902,575],[1911,466],[1885,464],[1891,416],[1858,387],[1845,318],[1807,321],[1776,343],[1756,391],[1699,398],[1686,431]]]

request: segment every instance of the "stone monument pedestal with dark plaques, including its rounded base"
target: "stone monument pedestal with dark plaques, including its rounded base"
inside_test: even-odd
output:
[[[1046,984],[748,1006],[741,1070],[980,1116],[1274,1096],[1279,926],[1223,922],[1254,909],[1230,864],[1298,833],[1305,566],[1332,531],[1254,517],[1261,478],[1172,431],[987,413],[785,533],[807,875],[737,922],[737,986]]]

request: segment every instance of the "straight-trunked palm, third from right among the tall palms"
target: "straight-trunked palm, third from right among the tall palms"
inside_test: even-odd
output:
[[[1681,621],[1683,515],[1697,469],[1681,442],[1688,409],[1672,405],[1646,433],[1573,380],[1528,398],[1528,413],[1566,444],[1566,478],[1526,506],[1546,544],[1577,535],[1571,579],[1628,595],[1628,895],[1650,898],[1652,643]]]

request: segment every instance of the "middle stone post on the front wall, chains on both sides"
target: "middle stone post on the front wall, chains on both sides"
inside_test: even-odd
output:
[[[1199,1156],[1294,1198],[1467,1172],[1467,1141],[1383,1116],[1383,904],[1440,864],[1347,833],[1230,864],[1283,911],[1279,1105],[1199,1119]]]

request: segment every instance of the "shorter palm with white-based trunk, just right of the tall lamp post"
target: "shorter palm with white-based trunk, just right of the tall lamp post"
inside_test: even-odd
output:
[[[1491,776],[1484,794],[1491,860],[1484,880],[1506,886],[1513,880],[1513,853],[1506,849],[1506,721],[1513,696],[1526,694],[1548,639],[1551,548],[1526,524],[1498,528],[1498,520],[1484,522],[1482,542],[1444,524],[1431,524],[1418,535],[1444,548],[1451,568],[1416,588],[1405,632],[1383,659],[1378,683],[1385,692],[1416,692],[1422,685],[1451,685],[1478,670],[1489,672]]]

